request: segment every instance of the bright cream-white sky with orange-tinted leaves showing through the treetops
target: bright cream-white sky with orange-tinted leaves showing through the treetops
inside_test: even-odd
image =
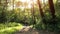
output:
[[[43,3],[44,0],[41,0],[41,2]],[[45,0],[45,3],[46,1],[48,0]],[[37,0],[14,0],[14,7],[15,8],[21,8],[21,9],[24,9],[24,8],[31,8],[32,7],[32,3],[37,3]],[[21,4],[21,3],[22,4]],[[20,5],[19,5],[20,4]],[[18,6],[17,6],[18,5]],[[13,9],[13,5],[10,5],[9,6],[11,9]]]

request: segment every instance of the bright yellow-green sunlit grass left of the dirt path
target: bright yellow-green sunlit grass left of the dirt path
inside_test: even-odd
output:
[[[10,22],[10,23],[1,23],[0,24],[0,34],[14,34],[14,32],[22,29],[22,24]]]

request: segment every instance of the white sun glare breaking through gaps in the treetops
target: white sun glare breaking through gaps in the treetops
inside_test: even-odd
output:
[[[15,0],[15,1],[16,1],[16,2],[22,2],[22,4],[27,3],[26,8],[31,8],[31,7],[32,7],[32,3],[34,2],[34,4],[35,4],[37,0]],[[43,3],[43,1],[44,1],[44,0],[41,0],[42,3]],[[46,2],[47,2],[47,0],[45,0],[45,3],[46,3]],[[13,6],[13,5],[12,5],[12,6]],[[15,8],[22,8],[22,9],[25,8],[25,5],[19,5],[19,6],[17,7],[17,5],[14,4],[14,6],[15,6]],[[22,6],[23,6],[23,7],[22,7]],[[13,9],[13,7],[11,7],[11,6],[10,6],[10,8]]]

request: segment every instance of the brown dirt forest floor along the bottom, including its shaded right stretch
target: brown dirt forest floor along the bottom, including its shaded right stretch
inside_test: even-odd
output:
[[[24,26],[23,29],[15,32],[15,34],[56,34],[54,32],[48,31],[38,31],[36,29],[31,28],[30,26]]]

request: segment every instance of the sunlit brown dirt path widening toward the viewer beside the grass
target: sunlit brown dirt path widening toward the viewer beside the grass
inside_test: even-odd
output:
[[[15,34],[38,34],[38,31],[32,29],[30,26],[23,26],[23,29],[18,32],[15,32]]]

